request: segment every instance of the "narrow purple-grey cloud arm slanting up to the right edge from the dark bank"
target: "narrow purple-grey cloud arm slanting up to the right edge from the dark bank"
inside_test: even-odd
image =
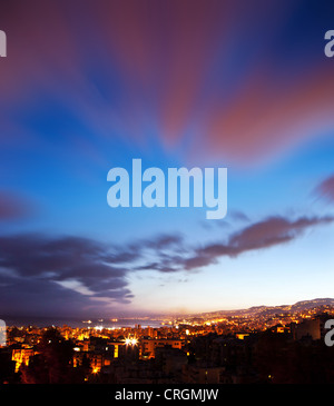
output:
[[[193,247],[183,238],[177,237],[175,239],[177,248],[164,250],[157,249],[159,245],[155,245],[153,241],[154,260],[144,256],[144,264],[134,266],[132,270],[156,270],[165,274],[183,270],[193,271],[216,264],[220,257],[235,258],[247,251],[289,242],[299,237],[306,229],[332,221],[334,221],[334,217],[331,216],[301,217],[295,220],[276,216],[253,222],[232,234],[225,241],[214,241],[202,247]],[[148,241],[145,242],[145,246],[147,244]]]

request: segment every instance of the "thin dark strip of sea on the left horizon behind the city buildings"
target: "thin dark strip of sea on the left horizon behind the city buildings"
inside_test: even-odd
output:
[[[91,319],[63,319],[63,318],[49,318],[49,317],[3,317],[2,320],[7,326],[36,326],[36,327],[62,327],[69,326],[72,328],[88,328],[88,327],[104,327],[104,328],[135,328],[140,326],[141,328],[154,327],[159,328],[168,325],[168,321],[156,318],[91,318]]]

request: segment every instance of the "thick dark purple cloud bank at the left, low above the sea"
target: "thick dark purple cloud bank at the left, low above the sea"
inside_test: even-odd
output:
[[[30,309],[38,315],[51,310],[75,315],[101,310],[104,304],[128,303],[132,296],[127,268],[118,266],[119,257],[127,256],[121,251],[116,256],[112,249],[81,237],[0,237],[2,313]]]

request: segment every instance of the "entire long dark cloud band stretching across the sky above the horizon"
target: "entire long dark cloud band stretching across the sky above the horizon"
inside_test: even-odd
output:
[[[222,257],[289,242],[334,217],[268,217],[226,241],[190,246],[179,235],[160,235],[126,247],[82,237],[40,234],[0,237],[0,308],[4,315],[101,315],[134,297],[127,276],[137,271],[195,271]]]

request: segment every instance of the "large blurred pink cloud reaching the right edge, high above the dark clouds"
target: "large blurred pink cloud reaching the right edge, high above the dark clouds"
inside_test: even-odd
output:
[[[217,102],[208,113],[203,130],[209,154],[223,152],[232,160],[247,162],[333,128],[334,82],[328,68],[287,83],[275,83],[267,72],[253,76],[227,107]]]

